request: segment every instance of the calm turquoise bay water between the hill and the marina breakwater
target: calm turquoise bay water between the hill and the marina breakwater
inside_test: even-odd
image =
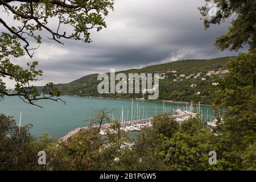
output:
[[[63,96],[63,102],[55,101],[39,101],[36,104],[43,106],[32,106],[24,103],[18,97],[5,97],[5,100],[0,101],[0,113],[5,115],[12,115],[19,122],[20,111],[22,111],[22,125],[31,123],[33,125],[31,133],[40,136],[42,133],[49,133],[51,137],[60,138],[69,131],[77,127],[88,126],[86,119],[90,119],[95,111],[100,109],[113,110],[113,116],[119,120],[121,116],[121,109],[123,106],[124,119],[127,119],[127,110],[129,109],[129,119],[131,118],[131,101],[130,100],[110,100],[104,98],[82,98],[82,97],[68,97]],[[137,101],[133,102],[133,114],[137,119]],[[141,118],[144,107],[144,117],[152,117],[155,115],[155,107],[157,114],[163,113],[163,104],[160,102],[143,102],[138,101],[141,107]],[[185,109],[185,105],[165,104],[171,111],[177,109]],[[147,108],[147,115],[146,113]],[[213,116],[213,109],[211,107],[201,106],[203,115]]]

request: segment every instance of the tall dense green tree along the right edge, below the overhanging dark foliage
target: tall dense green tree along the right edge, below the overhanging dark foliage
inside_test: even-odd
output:
[[[228,64],[229,73],[219,80],[216,104],[228,107],[218,136],[223,169],[251,169],[253,163],[245,151],[256,140],[255,60],[256,49],[240,53]]]

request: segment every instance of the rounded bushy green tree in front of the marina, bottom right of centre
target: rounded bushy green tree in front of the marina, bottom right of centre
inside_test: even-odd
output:
[[[208,163],[208,152],[217,151],[214,132],[198,118],[181,125],[174,119],[154,118],[152,127],[138,135],[133,158],[138,170],[207,170],[218,169]],[[134,161],[136,161],[133,159]]]

